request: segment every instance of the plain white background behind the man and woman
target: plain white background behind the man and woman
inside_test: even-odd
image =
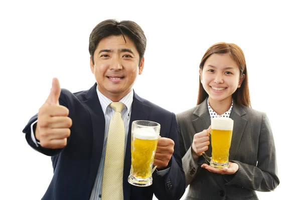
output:
[[[90,88],[88,40],[108,18],[137,22],[147,47],[134,89],[175,113],[196,104],[206,49],[238,44],[249,73],[251,103],[272,126],[280,184],[260,199],[299,195],[300,19],[283,1],[32,1],[0,3],[0,199],[41,199],[52,178],[48,156],[33,150],[22,129],[44,103],[52,77],[72,92]]]

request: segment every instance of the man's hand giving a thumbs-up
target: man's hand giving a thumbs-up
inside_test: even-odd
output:
[[[68,117],[69,109],[59,104],[60,82],[52,79],[52,88],[45,103],[38,112],[35,136],[45,148],[63,148],[70,136],[72,120]]]

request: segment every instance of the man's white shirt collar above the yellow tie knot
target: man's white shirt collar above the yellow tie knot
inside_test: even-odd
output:
[[[108,97],[106,97],[105,95],[103,95],[99,91],[98,86],[96,87],[96,92],[97,92],[97,95],[98,95],[98,99],[99,99],[103,114],[105,114],[107,107],[113,101],[111,99],[109,99]],[[119,100],[119,102],[122,102],[122,103],[125,104],[125,107],[127,108],[128,113],[131,111],[131,105],[132,105],[132,102],[133,102],[133,95],[134,95],[134,92],[133,92],[133,89],[131,89],[130,92],[128,92],[125,96],[123,96]]]

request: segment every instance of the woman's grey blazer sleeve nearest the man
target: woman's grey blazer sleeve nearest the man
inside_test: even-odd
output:
[[[180,143],[181,157],[183,162],[183,170],[186,177],[186,187],[195,179],[200,170],[203,168],[201,165],[206,162],[204,156],[200,156],[197,161],[192,156],[192,146],[185,150],[184,135],[181,128],[181,119],[178,121],[178,137]]]

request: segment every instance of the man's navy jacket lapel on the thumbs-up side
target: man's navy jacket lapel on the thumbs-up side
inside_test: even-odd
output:
[[[86,104],[86,108],[89,111],[92,119],[93,137],[92,137],[92,154],[91,154],[91,166],[89,176],[89,192],[92,192],[95,178],[97,175],[98,167],[100,164],[100,158],[103,148],[104,130],[105,130],[105,118],[99,102],[99,98],[96,92],[95,83],[87,92],[85,97],[87,101],[82,102]]]

